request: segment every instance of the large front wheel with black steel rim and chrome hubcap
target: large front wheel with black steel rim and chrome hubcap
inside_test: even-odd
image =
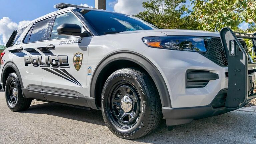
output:
[[[108,77],[101,95],[101,108],[110,131],[125,139],[151,133],[163,117],[154,83],[131,68],[119,69]]]

